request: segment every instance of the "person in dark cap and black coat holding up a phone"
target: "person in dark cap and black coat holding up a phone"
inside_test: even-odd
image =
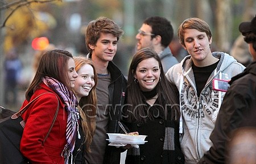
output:
[[[242,22],[239,31],[249,45],[254,61],[229,82],[230,88],[225,94],[215,128],[210,135],[213,145],[199,163],[237,163],[241,160],[242,163],[256,162],[255,155],[251,153],[256,148],[256,15],[251,21]],[[245,128],[249,128],[254,137],[246,137],[249,133],[243,133]],[[241,137],[237,133],[245,136]],[[246,140],[241,140],[237,146],[237,142],[234,142],[238,140],[236,137]],[[246,149],[248,146],[252,148]]]

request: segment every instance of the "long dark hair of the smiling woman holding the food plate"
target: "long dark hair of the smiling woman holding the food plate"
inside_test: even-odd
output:
[[[130,64],[129,74],[128,74],[128,82],[127,82],[127,92],[126,92],[126,105],[124,109],[126,109],[126,114],[129,115],[127,120],[131,121],[138,121],[138,122],[146,122],[146,118],[142,117],[147,115],[146,111],[142,104],[145,102],[142,92],[140,92],[139,84],[136,82],[134,78],[134,72],[137,69],[137,66],[140,62],[144,59],[154,58],[159,63],[160,67],[160,80],[157,85],[157,93],[159,102],[162,103],[164,100],[164,104],[160,104],[164,110],[166,109],[166,105],[171,106],[171,113],[168,111],[168,115],[171,115],[171,119],[178,120],[180,116],[179,110],[179,92],[175,84],[171,83],[166,79],[164,75],[163,66],[160,61],[158,54],[152,49],[144,48],[137,53],[134,54],[133,59]],[[166,111],[167,112],[167,111]],[[167,116],[167,115],[166,115]],[[169,116],[168,116],[169,117]]]

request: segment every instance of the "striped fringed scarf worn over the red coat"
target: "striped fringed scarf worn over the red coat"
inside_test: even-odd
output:
[[[75,141],[76,136],[80,137],[78,131],[78,120],[79,120],[79,111],[76,109],[77,100],[75,95],[65,87],[60,81],[53,79],[52,77],[44,77],[43,83],[46,84],[49,88],[51,88],[64,102],[65,110],[68,114],[67,119],[67,129],[66,129],[66,139],[67,144],[64,147],[61,156],[64,157],[65,163],[69,163],[68,159],[71,156],[71,163],[72,162],[72,152],[75,148]]]

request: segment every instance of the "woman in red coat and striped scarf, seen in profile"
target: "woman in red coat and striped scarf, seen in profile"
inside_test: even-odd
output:
[[[51,50],[40,58],[22,105],[24,107],[44,93],[22,115],[26,124],[20,151],[31,163],[68,163],[75,146],[79,120],[77,100],[71,91],[76,77],[75,62],[68,51]],[[43,143],[58,104],[56,121]]]

